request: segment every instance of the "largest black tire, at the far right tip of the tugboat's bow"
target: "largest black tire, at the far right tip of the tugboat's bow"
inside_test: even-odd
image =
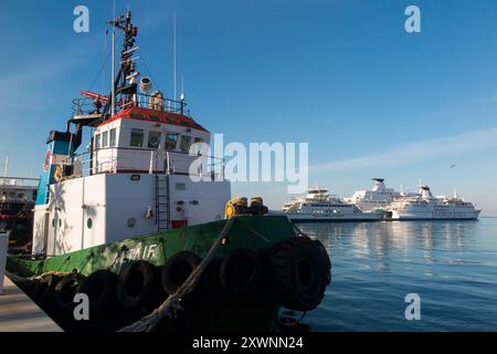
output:
[[[297,237],[278,243],[268,266],[273,294],[283,306],[310,311],[319,305],[328,281],[328,266],[316,242]]]

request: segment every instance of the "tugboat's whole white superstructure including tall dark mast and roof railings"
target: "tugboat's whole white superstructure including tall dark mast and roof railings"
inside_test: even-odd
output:
[[[66,131],[52,131],[46,142],[35,254],[219,220],[231,198],[222,159],[208,156],[211,134],[190,116],[184,95],[176,101],[151,92],[150,79],[137,71],[131,13],[110,23],[124,32],[112,93],[82,91]],[[78,153],[83,127],[91,140]]]

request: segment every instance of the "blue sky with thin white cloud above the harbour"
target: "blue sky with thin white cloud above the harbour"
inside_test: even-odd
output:
[[[76,6],[89,32],[73,30]],[[408,6],[421,32],[408,33]],[[474,201],[497,216],[497,2],[116,0],[134,11],[142,74],[225,143],[308,143],[309,184],[341,197],[372,177]],[[81,90],[109,87],[112,1],[0,1],[0,159],[41,173],[49,131]],[[179,85],[178,79],[178,85]],[[454,166],[455,165],[455,166]],[[284,183],[237,183],[271,207]]]

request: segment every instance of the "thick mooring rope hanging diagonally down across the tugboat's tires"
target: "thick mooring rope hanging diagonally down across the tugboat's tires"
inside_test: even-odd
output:
[[[118,332],[151,332],[154,327],[166,316],[171,316],[177,310],[181,310],[181,299],[190,293],[198,284],[203,271],[208,268],[209,263],[214,258],[218,250],[221,248],[224,238],[230,232],[236,217],[233,217],[226,221],[220,236],[214,241],[207,256],[202,259],[200,264],[188,277],[187,281],[178,289],[178,291],[169,295],[166,301],[150,314],[146,315],[141,320],[120,329]]]

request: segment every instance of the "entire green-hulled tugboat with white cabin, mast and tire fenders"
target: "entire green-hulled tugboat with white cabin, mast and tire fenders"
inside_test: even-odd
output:
[[[230,199],[184,97],[137,72],[131,12],[110,24],[124,34],[112,92],[83,91],[50,133],[32,254],[9,256],[9,277],[66,331],[269,331],[282,306],[316,309],[331,280],[324,246],[262,198]]]

